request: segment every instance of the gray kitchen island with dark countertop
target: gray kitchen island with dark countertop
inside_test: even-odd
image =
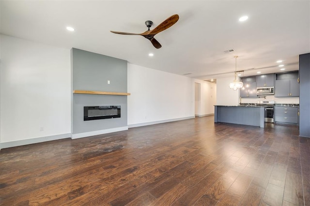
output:
[[[214,106],[214,122],[243,124],[264,128],[263,106]]]

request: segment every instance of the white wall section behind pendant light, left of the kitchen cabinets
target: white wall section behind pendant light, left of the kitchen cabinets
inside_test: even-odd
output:
[[[239,101],[239,89],[229,88],[229,83],[233,81],[232,77],[217,79],[217,105],[237,105]]]

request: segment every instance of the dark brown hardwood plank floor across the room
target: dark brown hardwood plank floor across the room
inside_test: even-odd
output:
[[[0,205],[310,205],[298,127],[188,119],[0,151]]]

